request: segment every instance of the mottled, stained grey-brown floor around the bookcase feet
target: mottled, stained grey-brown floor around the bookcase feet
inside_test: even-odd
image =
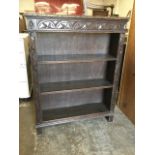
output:
[[[116,107],[112,123],[104,118],[35,130],[32,101],[20,103],[20,155],[134,155],[134,125]]]

